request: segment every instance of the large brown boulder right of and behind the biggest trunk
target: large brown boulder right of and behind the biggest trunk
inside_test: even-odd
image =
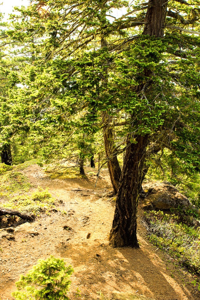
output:
[[[143,187],[144,190],[147,187]],[[167,181],[156,182],[148,186],[147,196],[142,204],[143,209],[161,209],[169,210],[170,208],[178,208],[178,206],[192,206],[192,203],[186,196]]]

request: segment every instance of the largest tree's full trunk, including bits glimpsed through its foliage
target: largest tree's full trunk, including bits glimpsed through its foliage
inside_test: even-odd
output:
[[[164,30],[166,28],[166,16],[167,16],[167,2],[163,0],[150,0],[148,3],[148,9],[146,12],[146,17],[145,17],[145,26],[143,30],[144,35],[147,36],[148,42],[152,41],[151,36],[154,36],[154,40],[156,41],[161,41],[160,38],[163,39],[164,37]],[[170,16],[173,17],[173,14],[170,13]],[[157,45],[158,46],[158,45]],[[145,49],[145,47],[142,47]],[[143,50],[141,49],[141,50]],[[162,49],[157,48],[157,55],[155,53],[155,48],[152,48],[149,45],[148,52],[151,53],[151,61],[152,63],[157,64],[157,70],[159,70],[159,66],[162,64],[161,57],[163,55],[159,55],[167,51],[167,49]],[[145,53],[146,57],[148,57],[148,53]],[[160,56],[160,57],[159,57]],[[159,60],[158,60],[159,58]],[[143,58],[144,59],[144,58]],[[150,62],[150,61],[149,61]],[[149,66],[149,67],[148,67]],[[156,78],[154,74],[154,68],[152,70],[152,65],[146,64],[146,66],[143,68],[143,72],[140,73],[140,76],[144,76],[146,80],[144,80],[145,83],[142,83],[140,85],[136,85],[135,89],[138,93],[142,95],[142,98],[145,98],[147,103],[147,107],[149,107],[149,111],[152,114],[152,109],[149,106],[149,103],[151,101],[154,101],[152,99],[152,87],[154,86],[155,88],[155,83],[158,78]],[[172,80],[171,77],[172,74],[168,75],[168,80]],[[178,76],[179,77],[179,76]],[[164,76],[163,76],[164,79]],[[162,79],[162,80],[163,80]],[[167,78],[166,78],[167,79]],[[165,79],[164,79],[165,80]],[[161,80],[160,81],[160,85]],[[157,91],[158,92],[158,91]],[[153,97],[157,98],[159,97],[158,93],[157,95],[154,94]],[[165,94],[162,92],[162,97]],[[170,105],[170,95],[168,95],[168,99],[166,98],[165,95],[165,100],[160,101],[159,103],[159,110],[160,110],[160,115],[167,114],[168,110],[166,105]],[[173,98],[173,96],[171,96]],[[178,96],[176,96],[178,97]],[[154,98],[154,99],[155,99]],[[193,99],[188,97],[188,101],[192,103]],[[177,101],[178,104],[179,101]],[[156,102],[154,102],[154,108],[156,106]],[[172,104],[171,104],[172,105]],[[165,108],[164,108],[165,107]],[[171,107],[172,108],[172,107]],[[142,113],[142,111],[141,111]],[[158,113],[158,112],[157,112]],[[181,113],[181,112],[180,112]],[[171,111],[172,114],[172,111]],[[132,115],[132,119],[134,122],[134,118],[136,117],[135,114]],[[172,116],[170,116],[172,118]],[[150,118],[151,119],[151,118]],[[161,127],[159,125],[159,122],[157,122],[155,128],[153,129],[151,126],[148,126],[151,131],[148,131],[147,128],[145,129],[145,120],[141,118],[141,121],[143,121],[142,127],[143,127],[143,132],[135,132],[134,134],[129,134],[127,136],[127,150],[126,150],[126,156],[125,156],[125,162],[122,170],[122,176],[120,179],[120,186],[119,186],[119,191],[116,199],[116,208],[115,208],[115,216],[112,224],[112,229],[110,232],[110,243],[116,247],[122,247],[124,245],[130,245],[132,247],[138,247],[138,242],[137,242],[137,237],[136,237],[136,215],[137,215],[137,204],[138,204],[138,197],[139,197],[139,192],[141,189],[141,184],[142,184],[142,178],[143,178],[143,170],[144,170],[144,163],[145,163],[145,157],[146,157],[146,149],[148,144],[151,141],[151,132],[152,130],[154,131],[160,131]],[[149,120],[148,120],[149,121]],[[161,121],[163,123],[163,129],[165,131],[168,131],[167,126],[165,127],[165,122],[164,120]],[[176,122],[176,121],[175,121]],[[167,123],[167,122],[166,122]],[[139,123],[139,125],[141,122]],[[172,129],[171,131],[177,131],[176,132],[176,137],[175,140],[178,139],[178,126],[176,128],[173,128],[173,124],[170,122],[168,123],[168,126],[170,126]],[[156,128],[157,127],[157,128]],[[199,128],[196,128],[197,131],[199,131]],[[131,141],[133,140],[135,135],[135,141],[134,143]]]

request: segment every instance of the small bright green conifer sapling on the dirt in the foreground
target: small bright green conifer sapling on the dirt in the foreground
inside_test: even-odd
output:
[[[16,300],[68,300],[72,273],[73,268],[66,267],[63,259],[52,255],[46,260],[39,259],[28,274],[21,275],[12,295]]]

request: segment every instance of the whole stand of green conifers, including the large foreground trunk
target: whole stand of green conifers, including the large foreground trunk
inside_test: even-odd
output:
[[[107,164],[110,243],[138,247],[145,179],[200,203],[199,1],[30,3],[1,24],[2,163]]]

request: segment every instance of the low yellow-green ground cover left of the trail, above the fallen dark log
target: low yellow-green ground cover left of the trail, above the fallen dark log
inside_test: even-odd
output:
[[[35,163],[36,160],[32,160],[12,167],[0,164],[2,207],[15,209],[22,213],[33,212],[37,216],[41,213],[49,214],[49,211],[55,207],[55,199],[48,189],[44,190],[38,187],[37,190],[31,192],[32,186],[28,177],[19,172]]]

